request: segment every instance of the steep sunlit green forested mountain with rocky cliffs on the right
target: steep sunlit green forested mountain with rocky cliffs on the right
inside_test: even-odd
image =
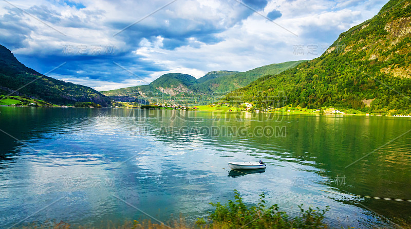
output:
[[[376,16],[342,33],[320,57],[261,77],[224,100],[264,108],[280,92],[294,107],[411,113],[410,2],[389,1]]]

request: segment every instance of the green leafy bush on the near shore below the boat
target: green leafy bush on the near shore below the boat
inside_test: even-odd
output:
[[[303,209],[303,204],[300,206],[301,216],[291,219],[286,212],[278,211],[278,205],[274,204],[266,208],[264,193],[261,194],[259,202],[256,206],[247,206],[242,202],[237,190],[234,190],[235,202],[229,200],[226,204],[210,203],[216,209],[209,216],[212,220],[212,225],[207,225],[210,228],[326,228],[323,223],[324,215],[329,210],[326,206],[325,210],[308,208]],[[197,225],[201,227],[206,222],[203,219],[197,221]]]

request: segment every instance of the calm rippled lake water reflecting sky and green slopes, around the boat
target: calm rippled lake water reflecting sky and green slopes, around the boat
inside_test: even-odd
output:
[[[233,199],[234,189],[250,204],[264,192],[291,216],[301,203],[328,205],[326,221],[335,227],[388,227],[394,217],[411,215],[411,202],[348,195],[411,200],[410,118],[0,112],[1,228],[47,219],[103,226],[148,215],[155,222],[179,214],[193,222],[212,210],[209,202]],[[268,163],[263,173],[228,172],[228,161],[259,159]]]

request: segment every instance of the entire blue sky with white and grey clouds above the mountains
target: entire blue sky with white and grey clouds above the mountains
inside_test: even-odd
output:
[[[313,59],[387,2],[3,0],[0,44],[42,74],[106,91]]]

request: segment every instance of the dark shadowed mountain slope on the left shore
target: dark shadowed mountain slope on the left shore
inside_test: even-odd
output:
[[[108,106],[111,101],[92,88],[44,76],[24,66],[9,49],[0,45],[0,95],[12,92],[56,105],[73,105],[79,101]]]

